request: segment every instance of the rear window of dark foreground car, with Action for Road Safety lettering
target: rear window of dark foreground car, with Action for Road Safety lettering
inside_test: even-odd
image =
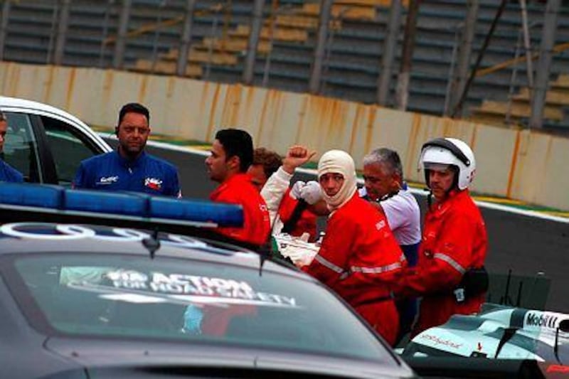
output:
[[[10,255],[4,278],[48,335],[161,338],[393,361],[323,287],[227,263],[133,255]]]

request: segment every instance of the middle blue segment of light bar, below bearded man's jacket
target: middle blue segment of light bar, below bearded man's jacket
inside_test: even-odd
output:
[[[138,193],[66,190],[63,209],[147,217],[149,196]]]

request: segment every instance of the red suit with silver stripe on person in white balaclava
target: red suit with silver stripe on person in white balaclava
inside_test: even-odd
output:
[[[306,271],[345,299],[393,345],[399,317],[390,284],[405,263],[385,216],[355,193],[331,214],[320,251]]]

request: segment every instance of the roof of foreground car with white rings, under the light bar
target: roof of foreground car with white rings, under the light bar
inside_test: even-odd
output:
[[[153,232],[135,228],[115,228],[105,225],[74,225],[57,223],[8,223],[0,226],[0,257],[7,254],[36,253],[95,253],[150,256],[144,245]],[[200,237],[158,233],[159,249],[154,256],[175,257],[201,262],[222,263],[248,269],[260,269],[261,253],[226,242],[204,240]],[[64,243],[62,243],[64,242]],[[262,262],[262,272],[274,272],[290,277],[303,277],[316,282],[292,266],[270,259]]]

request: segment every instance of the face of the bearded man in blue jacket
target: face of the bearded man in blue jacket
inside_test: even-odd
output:
[[[144,114],[135,112],[124,114],[117,131],[122,153],[127,156],[139,155],[147,144],[149,134],[150,127]]]

